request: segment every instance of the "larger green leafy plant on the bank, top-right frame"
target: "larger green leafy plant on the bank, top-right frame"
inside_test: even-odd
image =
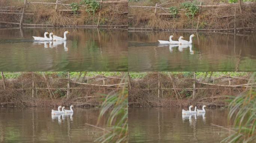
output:
[[[196,13],[198,13],[199,11],[199,7],[195,5],[195,3],[191,3],[191,2],[185,2],[185,3],[181,3],[182,7],[185,8],[186,13],[185,15],[188,18],[194,18]]]

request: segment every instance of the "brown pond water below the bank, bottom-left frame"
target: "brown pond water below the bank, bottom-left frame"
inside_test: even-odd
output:
[[[56,109],[57,110],[57,109]],[[0,108],[0,142],[92,143],[103,133],[95,127],[100,110],[74,108],[73,114],[51,115],[51,108]],[[102,125],[99,125],[104,127]]]

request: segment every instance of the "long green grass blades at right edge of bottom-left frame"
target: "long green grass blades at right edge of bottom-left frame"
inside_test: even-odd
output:
[[[127,74],[123,77],[127,78]],[[121,83],[127,80],[122,80]],[[106,111],[110,110],[107,119],[107,126],[110,127],[109,132],[99,137],[97,142],[113,142],[123,143],[128,142],[128,90],[124,86],[122,89],[118,89],[117,93],[106,96],[106,100],[101,105],[101,112],[98,118],[98,123],[101,118],[104,118]]]

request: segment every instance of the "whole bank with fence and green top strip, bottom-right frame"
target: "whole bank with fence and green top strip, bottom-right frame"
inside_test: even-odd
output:
[[[196,72],[195,77],[193,72],[129,74],[129,106],[146,107],[225,107],[229,99],[246,89],[251,75],[250,72]]]

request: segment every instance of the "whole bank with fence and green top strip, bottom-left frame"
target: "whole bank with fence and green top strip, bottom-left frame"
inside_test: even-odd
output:
[[[118,93],[122,72],[3,72],[1,106],[99,107],[106,96]],[[103,77],[104,75],[104,77]]]

